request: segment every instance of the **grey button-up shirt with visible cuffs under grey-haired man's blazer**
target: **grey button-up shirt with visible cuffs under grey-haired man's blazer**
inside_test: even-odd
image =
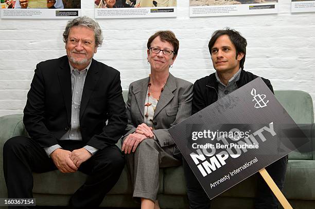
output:
[[[75,69],[70,63],[71,72],[71,90],[72,90],[72,104],[71,104],[71,128],[59,139],[59,140],[77,140],[82,141],[82,136],[80,132],[80,104],[82,99],[82,92],[84,87],[84,82],[86,74],[91,66],[91,63],[84,69]],[[62,148],[59,144],[55,144],[50,147],[44,147],[46,154],[49,156],[53,151],[58,148]],[[86,145],[83,148],[88,150],[92,155],[98,150],[95,147]]]

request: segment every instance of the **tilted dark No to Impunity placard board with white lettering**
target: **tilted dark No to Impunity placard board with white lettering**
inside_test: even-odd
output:
[[[169,132],[211,199],[308,142],[261,78]]]

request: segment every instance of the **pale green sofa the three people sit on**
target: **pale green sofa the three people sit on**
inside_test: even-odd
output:
[[[127,91],[124,91],[126,100]],[[275,91],[276,98],[290,116],[298,124],[311,124],[306,131],[311,140],[306,148],[307,153],[293,151],[289,155],[284,194],[293,208],[315,208],[315,125],[313,124],[313,103],[308,93],[304,91],[282,90]],[[0,118],[0,146],[13,136],[26,136],[23,115],[9,115]],[[1,148],[1,156],[3,149]],[[0,169],[3,169],[3,158]],[[33,194],[37,205],[67,205],[68,199],[81,184],[86,176],[80,172],[62,174],[58,170],[43,174],[33,174]],[[213,200],[211,208],[253,208],[256,195],[256,180],[258,174],[235,185]],[[0,172],[0,198],[7,197],[3,172]],[[182,166],[160,170],[160,189],[158,195],[161,208],[188,208],[186,198],[185,178]],[[139,207],[132,200],[132,188],[127,168],[125,167],[120,179],[101,206],[106,207]]]

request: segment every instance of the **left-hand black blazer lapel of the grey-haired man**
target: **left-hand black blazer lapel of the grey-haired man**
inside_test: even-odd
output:
[[[72,92],[71,92],[71,72],[69,62],[66,56],[62,58],[60,67],[57,70],[59,83],[61,86],[62,97],[66,107],[67,113],[67,122],[71,124],[71,101],[72,101]]]

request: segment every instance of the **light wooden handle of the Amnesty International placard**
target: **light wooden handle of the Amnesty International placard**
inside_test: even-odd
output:
[[[276,196],[280,204],[283,206],[284,209],[293,209],[288,202],[288,200],[285,198],[285,196],[282,194],[278,186],[274,183],[271,176],[268,174],[267,170],[265,168],[259,170],[259,174],[264,178],[268,186],[270,187],[273,194]]]

